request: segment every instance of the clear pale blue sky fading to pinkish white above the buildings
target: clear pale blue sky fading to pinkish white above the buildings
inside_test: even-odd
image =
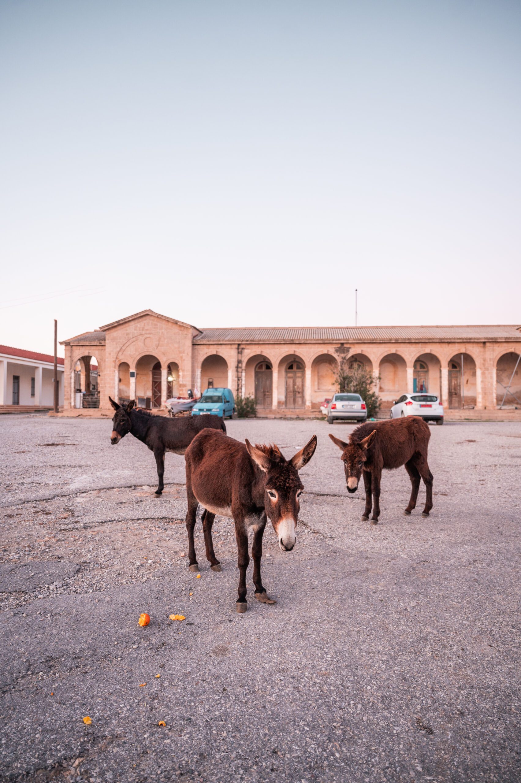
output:
[[[0,0],[0,343],[521,323],[521,3]],[[55,295],[57,294],[57,295]]]

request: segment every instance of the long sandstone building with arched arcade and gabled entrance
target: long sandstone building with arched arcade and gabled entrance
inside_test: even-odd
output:
[[[252,327],[198,329],[152,310],[63,341],[67,412],[114,399],[165,407],[189,388],[228,386],[263,415],[312,415],[335,391],[338,361],[363,364],[382,408],[405,392],[449,410],[521,408],[521,327]],[[96,390],[92,388],[96,366]]]

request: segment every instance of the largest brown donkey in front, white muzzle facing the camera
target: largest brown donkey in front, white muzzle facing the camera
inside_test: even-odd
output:
[[[246,612],[246,569],[248,557],[248,529],[253,530],[253,583],[255,598],[264,604],[274,604],[262,586],[260,565],[262,536],[267,518],[277,534],[279,547],[290,552],[295,547],[298,498],[304,489],[298,472],[317,448],[317,437],[309,441],[291,460],[286,460],[278,446],[251,446],[245,441],[233,440],[222,432],[203,430],[186,449],[186,529],[188,530],[190,571],[197,571],[194,547],[194,528],[197,504],[203,511],[206,557],[213,571],[221,566],[215,557],[212,525],[215,514],[231,517],[235,522],[239,565],[239,596],[237,612]]]

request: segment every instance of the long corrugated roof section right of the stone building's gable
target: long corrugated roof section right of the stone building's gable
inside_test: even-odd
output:
[[[238,327],[203,329],[195,343],[303,341],[519,340],[519,326],[468,327]]]

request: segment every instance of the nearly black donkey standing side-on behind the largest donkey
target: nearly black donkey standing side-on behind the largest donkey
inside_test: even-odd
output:
[[[165,416],[154,416],[146,410],[136,410],[136,400],[131,399],[126,405],[118,405],[118,402],[109,397],[110,405],[116,413],[112,417],[113,429],[110,442],[115,445],[125,438],[130,432],[140,440],[150,451],[154,452],[157,464],[158,485],[155,494],[161,495],[165,484],[165,451],[174,454],[184,454],[186,446],[189,446],[197,432],[204,428],[214,428],[226,432],[226,424],[220,416],[212,416],[212,413],[203,413],[201,416],[179,416],[168,419]]]

